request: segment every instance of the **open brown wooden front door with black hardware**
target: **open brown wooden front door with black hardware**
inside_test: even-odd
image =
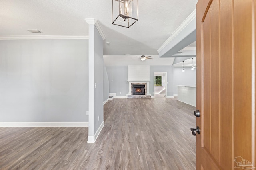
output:
[[[197,170],[255,170],[255,0],[199,0]]]

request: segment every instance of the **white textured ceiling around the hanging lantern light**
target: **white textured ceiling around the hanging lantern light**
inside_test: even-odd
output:
[[[111,0],[0,0],[0,36],[88,35],[95,18],[106,35],[104,55],[158,55],[156,51],[196,8],[197,0],[139,0],[130,28],[111,24]],[[42,34],[32,34],[38,29]]]

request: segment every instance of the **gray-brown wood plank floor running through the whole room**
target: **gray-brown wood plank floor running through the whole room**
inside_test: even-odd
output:
[[[114,98],[95,143],[88,127],[0,127],[0,169],[194,170],[194,110],[176,98]]]

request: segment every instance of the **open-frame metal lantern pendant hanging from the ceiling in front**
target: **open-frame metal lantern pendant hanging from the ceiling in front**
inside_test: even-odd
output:
[[[138,0],[112,0],[112,24],[129,28],[138,21]]]

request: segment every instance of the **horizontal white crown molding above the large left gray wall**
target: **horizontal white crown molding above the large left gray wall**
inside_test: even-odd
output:
[[[24,40],[24,39],[89,39],[89,35],[22,35],[0,36],[0,40]]]

